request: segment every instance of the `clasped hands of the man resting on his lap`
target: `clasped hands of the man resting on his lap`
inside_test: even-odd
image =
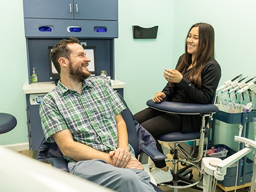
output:
[[[132,154],[124,148],[117,148],[109,152],[110,158],[113,160],[112,165],[120,168],[135,168],[144,170],[141,162],[132,157]]]

